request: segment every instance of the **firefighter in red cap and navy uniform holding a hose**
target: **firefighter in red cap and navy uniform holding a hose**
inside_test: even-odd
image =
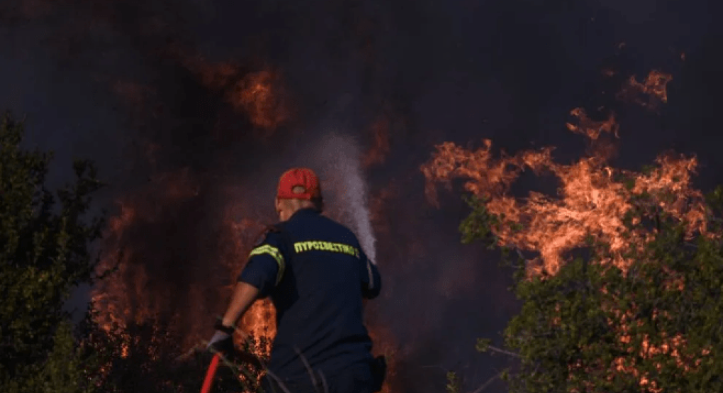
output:
[[[209,347],[233,348],[234,326],[254,300],[276,308],[265,392],[372,393],[381,387],[383,358],[373,358],[362,321],[363,299],[377,297],[381,277],[354,233],[322,216],[316,174],[290,169],[278,183],[279,224],[254,245],[231,304]],[[305,364],[307,363],[307,364]]]

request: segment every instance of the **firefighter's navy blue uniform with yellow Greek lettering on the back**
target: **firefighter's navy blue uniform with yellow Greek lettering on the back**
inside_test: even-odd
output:
[[[276,308],[269,370],[287,385],[304,384],[310,378],[301,352],[328,384],[366,379],[372,340],[362,321],[362,298],[379,295],[379,271],[353,232],[313,209],[301,209],[276,227],[281,232],[267,232],[239,276],[260,297],[270,296]]]

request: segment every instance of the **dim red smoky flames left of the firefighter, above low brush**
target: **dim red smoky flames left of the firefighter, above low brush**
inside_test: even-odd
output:
[[[93,296],[98,322],[107,330],[131,322],[162,321],[181,331],[186,349],[208,335],[208,321],[213,318],[209,311],[231,293],[231,278],[239,274],[263,225],[254,219],[236,219],[239,206],[229,204],[223,212],[226,219],[203,235],[205,228],[197,222],[208,208],[200,200],[199,187],[183,170],[155,177],[119,201],[120,214],[109,223],[106,252],[98,266],[99,271],[114,272],[98,284]],[[169,242],[169,237],[174,241]],[[185,240],[178,242],[181,239]],[[273,338],[270,303],[256,303],[241,326],[254,337]],[[264,353],[268,350],[262,348]]]

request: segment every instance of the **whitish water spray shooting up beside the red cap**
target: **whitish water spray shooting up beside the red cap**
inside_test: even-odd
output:
[[[367,182],[361,168],[361,151],[357,140],[348,135],[323,135],[310,150],[310,157],[320,168],[322,193],[336,218],[356,233],[364,253],[377,263],[376,239],[369,214]]]

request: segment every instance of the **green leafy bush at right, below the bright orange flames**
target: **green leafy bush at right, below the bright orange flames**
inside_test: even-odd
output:
[[[586,256],[537,276],[519,252],[498,246],[496,228],[511,224],[469,199],[463,241],[501,249],[516,269],[522,306],[503,333],[505,349],[490,339],[477,345],[517,358],[501,374],[510,392],[723,392],[723,188],[707,198],[706,231],[692,239],[688,222],[659,208],[664,198],[638,195],[625,217],[650,242],[611,255],[590,240]],[[605,262],[613,256],[629,263]]]

